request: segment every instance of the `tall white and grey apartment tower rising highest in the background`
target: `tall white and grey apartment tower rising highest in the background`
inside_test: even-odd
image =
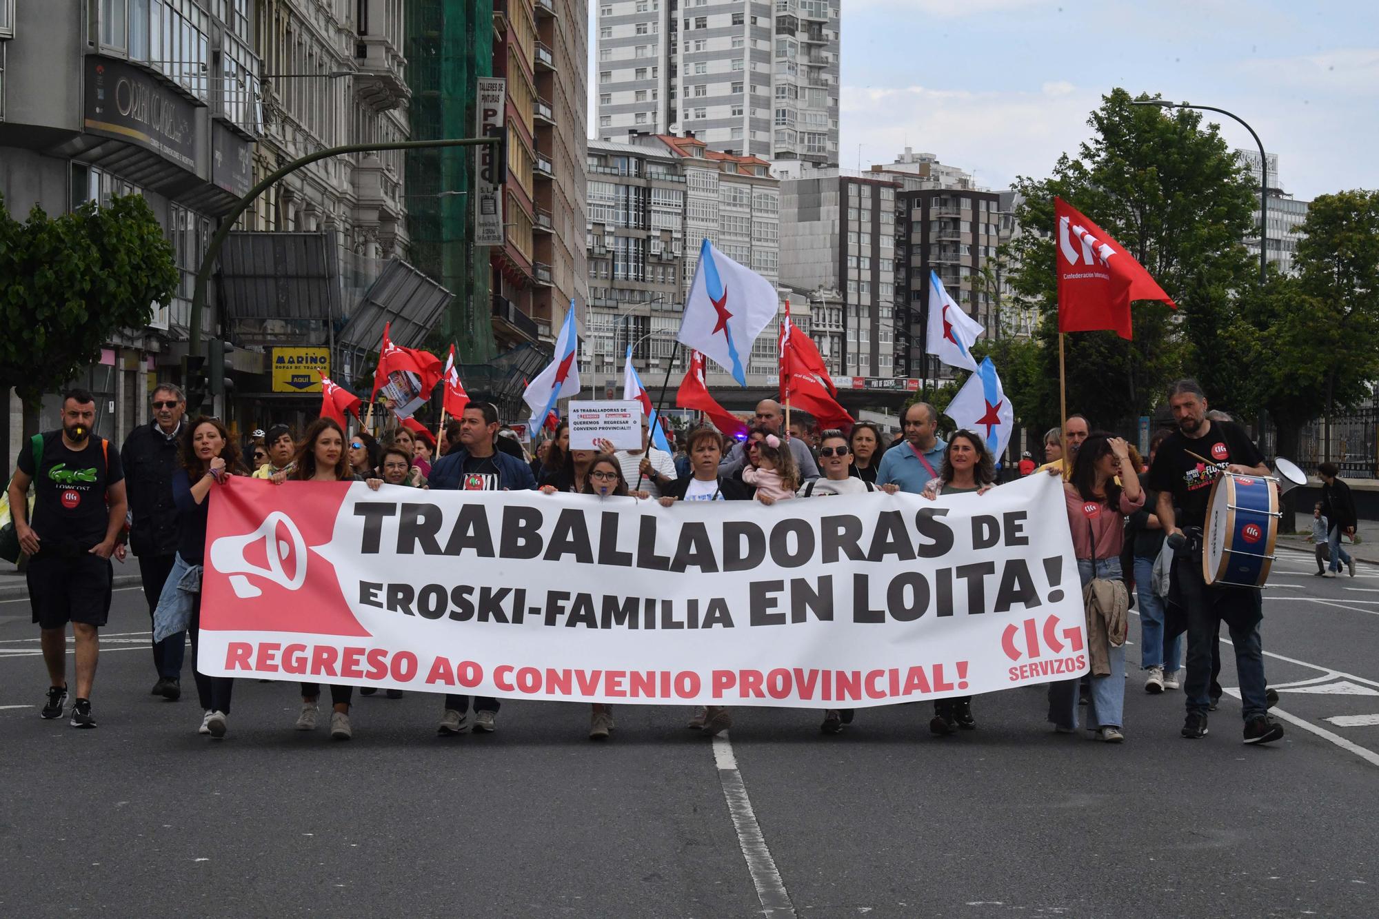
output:
[[[598,137],[838,161],[838,0],[598,1]]]

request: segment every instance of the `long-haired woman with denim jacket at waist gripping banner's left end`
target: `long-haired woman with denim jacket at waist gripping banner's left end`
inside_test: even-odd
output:
[[[197,417],[186,426],[181,444],[182,468],[172,473],[172,504],[177,508],[178,549],[177,563],[168,575],[159,607],[164,599],[185,600],[178,595],[182,573],[200,566],[205,552],[205,522],[210,511],[207,498],[212,488],[223,484],[230,476],[247,475],[240,465],[230,432],[218,418]],[[200,588],[200,585],[197,585]],[[199,733],[211,737],[225,737],[226,719],[230,715],[230,689],[234,680],[228,676],[207,676],[196,665],[201,647],[201,591],[190,596],[192,620],[188,631],[192,633],[192,672],[196,675],[196,694],[204,715]]]

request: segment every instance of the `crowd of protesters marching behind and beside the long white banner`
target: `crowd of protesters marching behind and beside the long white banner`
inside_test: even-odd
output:
[[[1020,475],[1062,476],[1069,527],[1088,617],[1091,675],[1056,682],[1048,689],[1048,720],[1058,733],[1078,723],[1106,742],[1125,740],[1125,633],[1134,592],[1140,620],[1143,689],[1160,695],[1183,687],[1187,709],[1182,735],[1207,734],[1207,713],[1220,697],[1219,629],[1226,621],[1240,672],[1245,742],[1282,735],[1269,715],[1259,636],[1258,591],[1241,592],[1223,613],[1201,581],[1200,542],[1205,495],[1189,487],[1198,475],[1193,455],[1225,457],[1223,468],[1240,475],[1266,475],[1263,457],[1244,428],[1208,413],[1207,397],[1193,381],[1180,381],[1169,395],[1176,429],[1150,440],[1147,458],[1113,433],[1096,431],[1083,415],[1044,437],[1044,465],[1022,454]],[[230,476],[251,475],[272,483],[365,482],[411,488],[501,491],[539,490],[554,495],[632,495],[670,508],[678,501],[757,501],[774,505],[798,498],[845,498],[867,493],[909,493],[924,500],[957,494],[982,495],[997,486],[997,465],[986,439],[957,431],[939,436],[934,406],[910,404],[898,437],[859,422],[847,432],[816,431],[807,421],[786,422],[782,407],[764,400],[741,440],[710,426],[681,435],[669,454],[652,444],[643,419],[641,448],[575,450],[560,424],[553,436],[527,454],[516,433],[488,403],[470,402],[461,417],[432,432],[414,419],[393,425],[382,437],[348,433],[330,418],[295,436],[281,424],[254,431],[241,450],[225,425],[204,415],[186,417],[182,392],[161,384],[152,396],[152,421],[137,428],[123,448],[92,435],[94,397],[73,389],[62,402],[62,429],[36,436],[19,454],[10,484],[15,533],[28,556],[26,577],[33,621],[50,676],[41,715],[58,719],[68,709],[66,626],[76,640],[76,689],[69,723],[97,726],[91,708],[98,657],[98,629],[110,609],[110,559],[138,560],[149,615],[153,621],[150,693],[168,701],[181,697],[188,638],[200,733],[228,731],[233,682],[196,669],[200,646],[200,573],[207,531],[208,495]],[[1066,451],[1066,453],[1065,453]],[[243,460],[241,460],[243,458]],[[245,464],[244,460],[248,460]],[[61,471],[61,472],[58,472]],[[79,471],[79,475],[72,475]],[[1342,533],[1354,528],[1354,504],[1335,468],[1324,466],[1324,502],[1317,509],[1314,538],[1327,545],[1328,574],[1354,562],[1340,549]],[[26,513],[26,493],[34,502]],[[1196,479],[1193,479],[1196,484]],[[1182,526],[1182,530],[1179,530]],[[1183,537],[1165,553],[1168,537]],[[127,545],[125,545],[127,542]],[[1194,548],[1196,546],[1196,548]],[[1197,552],[1198,555],[1193,555]],[[1162,559],[1169,559],[1162,564]],[[1196,560],[1194,560],[1196,557]],[[1162,564],[1162,574],[1160,567]],[[1171,574],[1168,574],[1171,571]],[[1178,614],[1169,615],[1175,599]],[[1186,678],[1182,676],[1186,633]],[[330,734],[353,735],[352,686],[328,686]],[[321,686],[302,683],[292,726],[312,731],[320,723]],[[374,690],[363,690],[372,694]],[[387,690],[401,697],[400,690]],[[1080,709],[1085,706],[1085,716]],[[437,733],[491,733],[498,726],[496,698],[444,695]],[[837,734],[854,719],[852,709],[827,709],[821,730]],[[728,729],[725,706],[696,709],[688,726],[713,735]],[[929,731],[939,737],[976,730],[971,697],[934,704]],[[594,704],[589,737],[607,740],[612,708]]]

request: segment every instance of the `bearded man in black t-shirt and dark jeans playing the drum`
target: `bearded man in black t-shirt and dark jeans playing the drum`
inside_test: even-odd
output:
[[[1267,476],[1269,468],[1244,428],[1207,418],[1207,395],[1196,379],[1180,379],[1168,393],[1178,424],[1154,454],[1149,487],[1158,491],[1156,513],[1168,540],[1190,535],[1190,551],[1174,563],[1174,588],[1187,613],[1187,719],[1182,734],[1207,735],[1211,706],[1212,646],[1220,620],[1230,626],[1236,671],[1245,718],[1245,742],[1267,744],[1284,735],[1269,719],[1265,662],[1259,640],[1262,603],[1258,588],[1208,588],[1202,575],[1201,530],[1207,522],[1211,486],[1223,472]],[[1194,455],[1196,454],[1196,455]],[[1180,509],[1178,513],[1175,509]],[[1187,534],[1183,530],[1189,530]]]

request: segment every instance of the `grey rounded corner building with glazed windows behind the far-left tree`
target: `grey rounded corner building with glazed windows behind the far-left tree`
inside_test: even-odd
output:
[[[97,432],[120,443],[148,395],[178,378],[192,288],[215,221],[252,182],[259,58],[248,0],[0,0],[0,193],[50,215],[142,195],[181,283],[149,327],[125,330],[74,384],[97,395]],[[197,317],[214,333],[212,309]],[[11,396],[11,432],[19,431]],[[44,428],[57,426],[57,399]],[[14,455],[12,439],[11,453]]]

